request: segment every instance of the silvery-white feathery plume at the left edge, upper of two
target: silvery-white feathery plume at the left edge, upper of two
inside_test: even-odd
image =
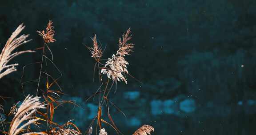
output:
[[[12,36],[10,36],[10,38],[4,45],[4,48],[0,54],[0,79],[5,75],[8,75],[13,71],[17,70],[16,66],[18,66],[18,64],[8,65],[8,62],[12,60],[12,58],[26,52],[34,52],[32,50],[26,50],[12,53],[16,48],[30,41],[26,40],[29,35],[21,35],[20,37],[17,37],[24,28],[25,26],[23,26],[23,24],[20,24],[20,26],[16,28],[16,30],[12,33]]]

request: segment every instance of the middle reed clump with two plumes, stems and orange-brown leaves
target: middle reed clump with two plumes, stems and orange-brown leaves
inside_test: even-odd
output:
[[[131,38],[132,38],[130,33],[131,33],[131,29],[129,28],[126,32],[124,32],[123,36],[121,38],[119,38],[119,42],[118,42],[119,49],[117,50],[116,54],[113,54],[111,58],[108,58],[108,60],[106,61],[106,64],[102,64],[100,62],[101,61],[100,58],[101,58],[103,52],[102,52],[101,46],[99,46],[97,43],[96,36],[94,36],[94,38],[92,39],[93,47],[87,47],[89,49],[89,51],[92,53],[92,57],[95,58],[95,60],[96,60],[96,64],[94,65],[94,71],[95,71],[96,66],[98,66],[98,68],[99,68],[100,87],[96,91],[96,94],[97,93],[99,94],[99,109],[98,109],[97,115],[95,116],[95,119],[97,118],[97,127],[98,126],[100,127],[99,135],[107,135],[107,132],[104,130],[101,123],[106,123],[106,124],[110,125],[112,128],[115,129],[117,134],[123,135],[123,133],[117,128],[114,120],[112,119],[112,116],[110,115],[108,104],[111,103],[112,106],[114,106],[124,116],[125,116],[125,114],[108,99],[108,95],[109,95],[109,92],[112,89],[112,86],[114,83],[117,84],[117,81],[124,81],[125,83],[127,83],[125,74],[130,75],[127,70],[127,65],[129,63],[124,59],[124,56],[130,55],[130,52],[133,52],[133,48],[134,48],[134,44],[128,43],[128,41],[131,40]],[[100,67],[100,65],[103,65],[103,67]],[[101,91],[101,85],[104,84],[101,73],[106,74],[108,76],[108,81],[106,82],[104,92]],[[112,80],[113,82],[112,82],[110,88],[108,89],[109,80]],[[103,96],[101,96],[101,92],[103,92]],[[104,103],[106,103],[108,119],[110,120],[111,123],[106,122],[101,117],[101,114],[102,114],[101,107]],[[93,119],[92,124],[95,119]],[[96,127],[96,131],[97,131],[97,127]],[[90,134],[90,133],[92,133],[92,132],[90,132],[90,130],[89,130],[88,134]]]

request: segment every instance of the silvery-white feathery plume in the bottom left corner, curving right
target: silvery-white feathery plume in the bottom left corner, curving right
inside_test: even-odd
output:
[[[37,120],[39,120],[32,116],[35,113],[36,109],[45,108],[44,104],[40,103],[39,99],[40,97],[38,96],[33,97],[30,95],[28,95],[24,99],[23,103],[18,108],[16,115],[12,119],[8,135],[18,135],[21,131],[23,131],[24,127],[27,127],[28,125],[35,123]],[[32,134],[44,135],[44,133],[35,132],[25,133],[23,135]]]

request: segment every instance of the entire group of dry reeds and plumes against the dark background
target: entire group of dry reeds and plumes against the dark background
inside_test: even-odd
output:
[[[20,32],[25,28],[23,24],[21,24],[15,32],[12,33],[12,36],[8,39],[7,43],[5,44],[1,54],[0,54],[0,79],[5,75],[16,71],[16,66],[18,64],[8,64],[12,58],[23,54],[23,53],[32,53],[36,51],[42,50],[42,56],[39,62],[35,62],[32,64],[40,64],[40,71],[37,79],[32,79],[37,83],[36,87],[36,96],[27,95],[24,101],[20,103],[14,104],[14,106],[10,109],[7,116],[13,116],[10,125],[5,126],[6,122],[5,119],[0,118],[0,123],[2,129],[0,130],[1,133],[4,135],[81,135],[81,131],[79,128],[72,123],[72,121],[68,121],[67,123],[60,125],[54,122],[54,111],[57,107],[60,107],[64,103],[73,103],[73,101],[61,99],[61,95],[64,94],[61,90],[60,85],[58,84],[58,80],[62,76],[60,70],[53,62],[53,53],[50,49],[49,44],[55,42],[54,39],[55,31],[53,27],[53,23],[50,20],[46,27],[46,30],[37,31],[39,35],[43,38],[43,45],[40,48],[36,48],[34,50],[26,50],[20,52],[13,52],[19,46],[27,43],[31,40],[26,40],[29,35],[22,35],[17,37]],[[114,128],[117,134],[122,134],[122,132],[117,128],[112,116],[110,114],[110,107],[109,104],[115,107],[118,111],[120,111],[124,116],[124,112],[120,110],[114,103],[108,99],[108,95],[112,90],[114,84],[118,81],[124,81],[127,83],[126,75],[130,75],[127,70],[128,62],[124,59],[124,56],[130,55],[130,52],[133,52],[134,44],[128,43],[131,39],[131,30],[130,28],[123,34],[123,36],[119,39],[119,49],[116,51],[115,54],[112,55],[111,58],[108,58],[105,64],[102,63],[102,56],[103,50],[101,45],[98,44],[96,35],[92,38],[93,46],[87,47],[92,57],[96,60],[94,70],[98,70],[99,75],[99,88],[97,91],[91,96],[99,95],[99,106],[97,115],[93,119],[92,123],[90,124],[88,130],[86,131],[87,135],[91,135],[93,131],[93,123],[96,120],[96,132],[98,131],[97,128],[99,127],[99,135],[107,135],[107,131],[105,131],[104,126],[102,123]],[[29,64],[29,65],[32,65]],[[48,71],[48,65],[53,65],[60,73],[59,76],[54,77],[51,75],[51,71]],[[28,65],[24,66],[23,74],[21,77],[21,85],[31,82],[31,81],[23,81],[24,76],[24,69]],[[97,67],[97,68],[96,68]],[[102,75],[107,75],[107,80],[104,81]],[[131,75],[130,75],[131,76]],[[42,83],[45,84],[45,87],[41,87]],[[58,87],[57,90],[52,89],[52,86]],[[117,89],[117,88],[116,88]],[[42,95],[43,100],[40,101],[40,97],[38,95]],[[88,99],[90,99],[89,97]],[[110,122],[104,120],[102,118],[102,107],[106,104],[106,110],[108,119]],[[76,104],[75,104],[76,105]],[[3,107],[0,105],[0,111],[4,111]],[[4,112],[3,112],[4,113]],[[45,123],[45,124],[44,124]],[[44,125],[44,131],[33,131],[36,127],[38,129],[39,126]],[[154,128],[148,125],[144,125],[140,127],[133,135],[147,135],[154,131]]]

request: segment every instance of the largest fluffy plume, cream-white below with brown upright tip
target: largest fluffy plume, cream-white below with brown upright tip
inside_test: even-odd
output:
[[[134,44],[128,43],[132,38],[130,35],[131,29],[129,28],[126,33],[123,34],[122,38],[119,39],[119,49],[116,52],[116,55],[113,54],[112,58],[108,58],[108,61],[104,65],[104,68],[101,69],[101,73],[107,74],[109,79],[113,81],[124,81],[127,83],[126,78],[122,73],[127,73],[127,66],[129,63],[124,59],[125,55],[130,55]]]

